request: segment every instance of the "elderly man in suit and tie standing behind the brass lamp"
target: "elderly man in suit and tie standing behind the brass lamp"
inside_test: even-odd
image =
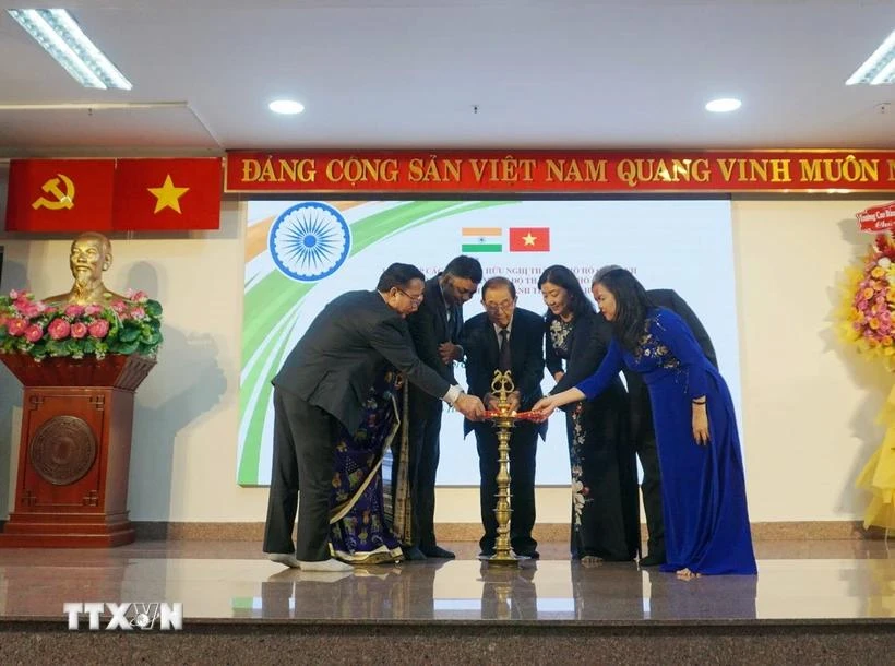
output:
[[[529,409],[542,395],[544,319],[516,307],[516,288],[505,277],[491,277],[481,287],[485,312],[470,319],[463,328],[466,353],[466,380],[469,393],[481,397],[486,407],[497,408],[491,393],[496,370],[510,370],[515,392],[510,396],[512,408]],[[544,436],[547,424],[521,421],[510,440],[510,544],[516,555],[537,558],[537,542],[532,538],[535,526],[535,454],[538,432]],[[481,524],[485,536],[479,540],[481,557],[494,554],[498,522],[497,506],[498,437],[491,424],[466,421],[464,429],[476,433],[480,481]]]

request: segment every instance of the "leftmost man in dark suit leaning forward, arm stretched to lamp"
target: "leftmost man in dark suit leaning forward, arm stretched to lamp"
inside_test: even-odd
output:
[[[422,288],[419,269],[394,263],[375,290],[343,294],[317,316],[273,379],[274,455],[264,531],[264,551],[273,561],[308,571],[351,569],[330,558],[335,444],[341,427],[355,432],[360,425],[363,401],[383,362],[468,418],[482,415],[478,397],[463,393],[414,353],[404,318],[422,302]]]

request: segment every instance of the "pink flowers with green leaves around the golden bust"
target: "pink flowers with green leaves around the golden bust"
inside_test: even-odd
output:
[[[109,305],[45,304],[27,292],[0,296],[0,353],[103,358],[155,356],[162,344],[162,306],[128,289]]]

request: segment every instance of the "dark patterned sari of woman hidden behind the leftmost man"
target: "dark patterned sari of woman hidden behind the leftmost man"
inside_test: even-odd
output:
[[[363,420],[350,436],[344,428],[336,443],[330,496],[330,548],[349,564],[379,564],[403,559],[401,542],[386,520],[382,463],[401,425],[401,377],[394,368],[379,373],[365,403]]]

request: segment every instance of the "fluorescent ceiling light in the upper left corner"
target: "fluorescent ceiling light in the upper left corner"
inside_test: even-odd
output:
[[[11,9],[15,19],[84,87],[133,86],[63,9]]]

